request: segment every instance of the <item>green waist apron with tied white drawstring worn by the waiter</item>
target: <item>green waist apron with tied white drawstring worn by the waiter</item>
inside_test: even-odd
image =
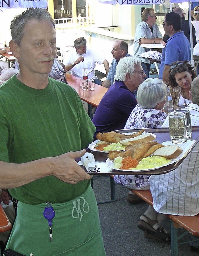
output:
[[[105,256],[95,194],[89,186],[80,197],[51,204],[55,211],[50,242],[48,220],[43,216],[46,203],[18,202],[17,216],[7,243],[29,256]]]

